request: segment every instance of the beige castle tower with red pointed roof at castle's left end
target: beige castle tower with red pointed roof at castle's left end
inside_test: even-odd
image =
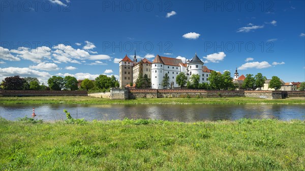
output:
[[[119,87],[124,88],[126,84],[133,81],[132,73],[133,61],[126,56],[119,62]]]

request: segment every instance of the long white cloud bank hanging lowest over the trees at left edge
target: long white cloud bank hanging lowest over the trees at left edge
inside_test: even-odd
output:
[[[51,77],[49,73],[39,72],[29,69],[28,67],[7,67],[4,69],[0,68],[0,80],[4,80],[6,77],[16,75],[20,77],[36,77],[40,82],[47,82],[47,80]]]

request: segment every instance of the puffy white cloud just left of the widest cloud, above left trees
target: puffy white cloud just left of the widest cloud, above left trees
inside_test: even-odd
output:
[[[51,49],[46,46],[37,47],[36,49],[19,47],[17,50],[12,49],[11,53],[16,53],[17,57],[31,60],[36,63],[40,63],[44,59],[51,59]]]

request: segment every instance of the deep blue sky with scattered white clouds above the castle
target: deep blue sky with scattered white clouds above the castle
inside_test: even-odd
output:
[[[1,1],[0,79],[118,78],[126,54],[305,81],[304,1]]]

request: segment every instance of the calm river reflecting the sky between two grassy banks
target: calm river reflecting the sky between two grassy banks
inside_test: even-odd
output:
[[[0,116],[8,120],[31,117],[64,120],[66,109],[73,118],[85,120],[162,119],[195,122],[236,120],[240,118],[305,120],[304,105],[1,105]]]

